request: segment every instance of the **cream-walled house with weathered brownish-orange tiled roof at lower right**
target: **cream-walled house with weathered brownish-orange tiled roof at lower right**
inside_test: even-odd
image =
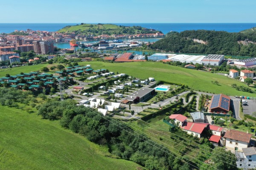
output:
[[[226,149],[242,152],[243,148],[247,148],[249,146],[251,136],[252,134],[250,133],[231,129],[228,130],[224,135],[224,138],[226,139]]]

